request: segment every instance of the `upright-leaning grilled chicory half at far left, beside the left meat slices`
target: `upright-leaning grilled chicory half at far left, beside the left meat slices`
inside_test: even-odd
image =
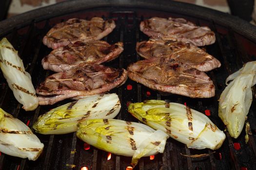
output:
[[[0,41],[0,68],[15,98],[23,104],[22,108],[26,111],[35,110],[39,101],[31,76],[25,71],[18,51],[6,38]]]

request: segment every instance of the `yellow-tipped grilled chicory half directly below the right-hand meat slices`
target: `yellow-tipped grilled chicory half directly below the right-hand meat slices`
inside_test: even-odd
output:
[[[204,114],[179,103],[148,100],[131,103],[128,111],[143,123],[160,129],[188,148],[218,149],[225,134]]]

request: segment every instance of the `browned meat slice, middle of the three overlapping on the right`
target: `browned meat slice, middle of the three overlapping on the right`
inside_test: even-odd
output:
[[[220,62],[202,49],[181,41],[150,39],[137,43],[136,50],[143,58],[168,57],[200,71],[220,67]]]

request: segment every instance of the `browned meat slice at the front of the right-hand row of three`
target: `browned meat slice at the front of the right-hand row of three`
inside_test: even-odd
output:
[[[206,73],[171,58],[141,60],[131,64],[127,70],[130,79],[158,91],[191,98],[215,95],[214,84]]]

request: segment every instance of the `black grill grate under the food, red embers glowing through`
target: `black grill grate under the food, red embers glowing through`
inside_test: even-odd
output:
[[[122,41],[124,43],[124,51],[122,54],[105,65],[114,68],[127,68],[130,63],[141,60],[137,55],[135,47],[136,42],[147,40],[148,37],[139,31],[139,23],[144,18],[149,17],[183,17],[198,25],[209,26],[217,36],[215,44],[205,47],[206,50],[215,56],[222,64],[221,68],[209,71],[207,74],[213,80],[216,86],[216,96],[211,99],[190,99],[179,95],[164,96],[153,91],[144,85],[140,85],[130,79],[121,87],[115,88],[110,93],[117,93],[121,101],[121,111],[117,119],[127,121],[138,121],[127,112],[127,103],[141,102],[148,99],[162,99],[171,102],[186,103],[192,109],[196,109],[202,113],[210,110],[209,118],[221,129],[224,125],[217,116],[218,98],[225,88],[226,77],[234,71],[241,68],[245,62],[255,59],[255,53],[247,49],[246,43],[256,47],[256,44],[237,34],[231,28],[218,25],[214,21],[199,19],[181,15],[177,13],[159,12],[146,9],[129,9],[129,10],[113,10],[111,8],[98,8],[93,11],[79,11],[59,17],[53,17],[42,21],[33,21],[29,25],[22,28],[15,28],[5,36],[19,51],[26,70],[31,74],[34,85],[39,85],[47,75],[53,72],[43,70],[40,65],[42,57],[47,55],[51,50],[42,44],[42,37],[56,23],[71,17],[91,18],[94,16],[103,18],[112,18],[115,20],[117,27],[104,40],[110,44]],[[128,87],[129,86],[129,87]],[[131,89],[132,88],[132,89]],[[253,89],[254,94],[256,89]],[[0,107],[8,113],[13,114],[24,123],[28,123],[32,127],[39,115],[44,114],[51,108],[55,108],[67,101],[59,102],[52,106],[39,106],[33,112],[25,112],[21,109],[12,91],[0,73]],[[209,170],[209,169],[256,169],[256,100],[252,103],[248,114],[248,122],[251,125],[252,135],[250,140],[245,144],[243,132],[237,139],[233,139],[226,132],[226,140],[222,147],[215,151],[211,150],[193,150],[188,149],[184,144],[169,138],[166,143],[165,152],[155,155],[154,160],[149,157],[140,159],[135,170]],[[84,142],[76,137],[75,133],[66,135],[40,135],[36,134],[41,142],[44,143],[44,151],[39,159],[35,162],[28,161],[5,155],[0,155],[0,170],[55,170],[55,169],[77,169],[87,167],[89,170],[125,170],[130,166],[131,157],[118,156],[112,154],[110,160],[107,160],[108,153],[90,147],[89,150],[84,149]],[[239,147],[237,147],[240,145]],[[182,154],[201,154],[210,153],[210,156],[203,158],[190,158],[180,155]],[[73,167],[75,166],[75,167]]]

